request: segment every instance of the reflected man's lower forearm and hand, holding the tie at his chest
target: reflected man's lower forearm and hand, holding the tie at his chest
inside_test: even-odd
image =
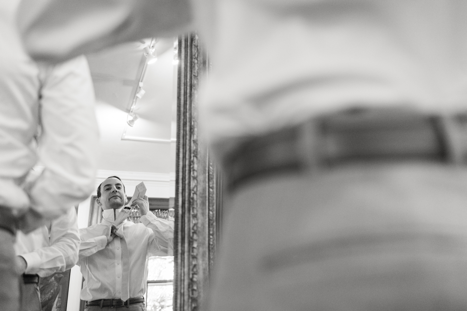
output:
[[[86,240],[81,240],[79,245],[79,260],[89,257],[99,250],[104,249],[106,245],[112,242],[115,237],[116,227],[114,225],[105,227],[102,232],[99,230],[89,231],[87,228],[81,229],[81,236],[86,236]]]

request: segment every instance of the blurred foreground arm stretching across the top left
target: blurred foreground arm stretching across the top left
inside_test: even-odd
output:
[[[188,0],[22,0],[17,19],[24,46],[37,61],[76,55],[150,37],[171,37],[192,27]]]

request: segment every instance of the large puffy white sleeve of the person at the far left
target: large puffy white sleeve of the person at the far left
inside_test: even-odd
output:
[[[92,192],[98,128],[94,90],[85,56],[43,68],[38,154],[45,167],[25,187],[35,214],[54,219]],[[45,71],[45,73],[44,73]],[[33,221],[21,226],[33,226]]]

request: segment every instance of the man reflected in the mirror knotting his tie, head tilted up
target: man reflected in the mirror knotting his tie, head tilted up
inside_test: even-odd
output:
[[[173,220],[157,218],[149,212],[145,197],[132,203],[139,207],[141,223],[125,220],[115,226],[114,215],[118,216],[127,201],[125,187],[117,176],[104,180],[97,196],[103,221],[80,229],[78,265],[85,278],[81,299],[87,301],[86,310],[114,310],[113,307],[124,305],[130,311],[146,310],[146,259],[173,254]]]

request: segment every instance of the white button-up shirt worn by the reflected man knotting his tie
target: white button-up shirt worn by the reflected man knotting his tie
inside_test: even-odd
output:
[[[173,255],[174,222],[157,218],[151,212],[140,220],[142,223],[138,224],[125,220],[118,226],[117,234],[123,234],[127,242],[129,267],[123,264],[121,238],[115,236],[107,245],[107,238],[102,235],[110,221],[104,219],[100,224],[80,229],[78,265],[85,278],[82,300],[121,299],[125,269],[129,269],[129,298],[144,296],[148,277],[146,259]]]

